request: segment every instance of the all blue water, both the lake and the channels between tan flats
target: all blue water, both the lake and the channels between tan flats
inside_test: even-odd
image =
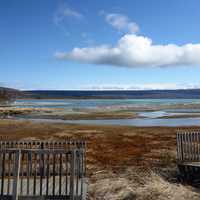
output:
[[[110,109],[119,107],[160,107],[170,105],[194,105],[200,104],[200,99],[66,99],[66,100],[17,100],[16,107],[30,108],[63,108],[66,110],[76,109]],[[183,106],[184,107],[184,106]],[[136,119],[105,119],[105,120],[59,120],[59,119],[32,119],[35,122],[56,122],[96,125],[130,125],[130,126],[199,126],[200,118],[171,118],[159,119],[163,116],[184,115],[188,113],[200,113],[200,109],[181,108],[164,109],[158,111],[140,111],[138,114],[143,118]]]

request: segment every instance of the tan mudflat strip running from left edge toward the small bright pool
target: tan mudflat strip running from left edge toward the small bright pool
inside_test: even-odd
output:
[[[62,120],[82,120],[82,119],[132,119],[138,117],[137,113],[129,110],[73,110],[66,111],[62,108],[17,108],[0,107],[0,117],[19,117],[33,119],[62,119]]]

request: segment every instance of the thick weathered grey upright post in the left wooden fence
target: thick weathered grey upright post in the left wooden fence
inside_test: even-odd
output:
[[[13,200],[18,200],[20,163],[21,163],[21,150],[18,150],[15,154],[15,163],[13,172],[15,174],[13,181]]]

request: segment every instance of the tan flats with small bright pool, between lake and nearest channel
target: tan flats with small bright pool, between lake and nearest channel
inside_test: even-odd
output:
[[[200,104],[111,106],[97,108],[0,107],[0,118],[109,120],[109,119],[180,119],[200,118]]]

